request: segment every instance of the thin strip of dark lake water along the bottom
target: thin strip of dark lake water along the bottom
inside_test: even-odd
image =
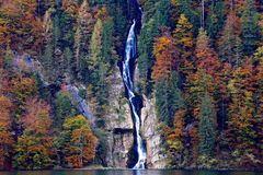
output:
[[[263,172],[237,172],[237,171],[39,171],[39,172],[0,172],[0,175],[263,175]]]

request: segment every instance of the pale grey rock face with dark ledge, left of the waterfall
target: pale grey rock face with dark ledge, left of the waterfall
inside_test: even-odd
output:
[[[110,77],[110,108],[106,120],[107,130],[107,165],[112,167],[126,167],[127,153],[134,144],[133,118],[129,104],[125,97],[125,88],[121,71],[115,68]]]

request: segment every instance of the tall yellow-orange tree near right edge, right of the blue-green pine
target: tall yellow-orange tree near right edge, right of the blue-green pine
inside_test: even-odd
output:
[[[233,79],[228,84],[231,95],[228,112],[229,144],[238,156],[243,158],[254,154],[256,141],[256,130],[253,127],[255,124],[254,84],[253,67],[249,61],[233,72]]]

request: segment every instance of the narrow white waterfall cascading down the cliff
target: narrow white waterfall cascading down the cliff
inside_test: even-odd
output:
[[[135,34],[135,25],[136,21],[134,20],[133,25],[130,26],[128,38],[126,42],[125,47],[125,58],[123,61],[123,79],[124,83],[128,91],[128,98],[129,103],[132,105],[132,112],[135,117],[135,135],[136,135],[136,141],[137,141],[137,152],[138,152],[138,162],[134,166],[134,168],[145,168],[146,163],[146,150],[144,149],[142,140],[140,137],[140,118],[139,114],[136,110],[135,107],[135,93],[134,93],[134,84],[130,77],[130,70],[129,70],[129,61],[130,59],[135,58],[136,56],[136,34]]]

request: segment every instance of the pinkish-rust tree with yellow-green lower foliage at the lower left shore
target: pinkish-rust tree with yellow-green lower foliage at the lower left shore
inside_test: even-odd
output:
[[[31,98],[25,109],[25,116],[20,119],[24,132],[18,138],[14,149],[14,166],[20,170],[52,167],[50,106],[41,100]]]

